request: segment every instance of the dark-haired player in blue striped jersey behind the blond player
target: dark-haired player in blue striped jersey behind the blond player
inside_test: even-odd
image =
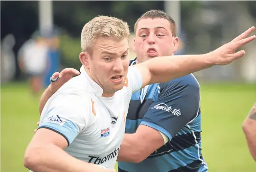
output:
[[[178,47],[176,27],[166,13],[146,12],[138,19],[135,30],[137,59],[131,60],[130,65],[174,55]],[[64,70],[53,77],[61,75],[65,75]],[[53,92],[63,83],[61,77],[52,83]],[[46,93],[40,112],[46,97],[53,94]],[[118,163],[120,172],[208,171],[200,147],[200,90],[192,74],[133,93],[128,112],[118,156],[118,161],[127,162]]]

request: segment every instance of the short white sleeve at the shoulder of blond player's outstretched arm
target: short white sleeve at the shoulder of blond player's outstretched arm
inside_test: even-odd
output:
[[[125,86],[127,86],[128,89],[132,91],[132,93],[140,90],[142,87],[141,72],[136,68],[130,66],[125,80]]]

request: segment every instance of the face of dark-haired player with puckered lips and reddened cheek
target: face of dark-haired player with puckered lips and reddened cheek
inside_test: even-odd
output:
[[[178,38],[172,36],[168,20],[142,19],[137,23],[134,51],[140,63],[158,56],[173,55],[177,47]]]

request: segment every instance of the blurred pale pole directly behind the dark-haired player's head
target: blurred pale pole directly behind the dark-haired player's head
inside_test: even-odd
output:
[[[171,16],[177,27],[177,36],[181,32],[181,4],[179,0],[165,0],[164,1],[165,12]]]

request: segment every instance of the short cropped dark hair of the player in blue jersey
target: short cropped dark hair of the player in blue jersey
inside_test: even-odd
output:
[[[136,28],[137,28],[137,24],[140,20],[142,19],[155,19],[155,18],[163,18],[166,19],[170,22],[171,24],[171,33],[172,36],[176,37],[176,24],[175,21],[173,20],[173,18],[171,16],[169,16],[168,14],[166,14],[163,11],[160,10],[150,10],[145,12],[140,18],[138,18],[138,20],[136,21],[135,25],[134,25],[134,32],[136,33]]]

